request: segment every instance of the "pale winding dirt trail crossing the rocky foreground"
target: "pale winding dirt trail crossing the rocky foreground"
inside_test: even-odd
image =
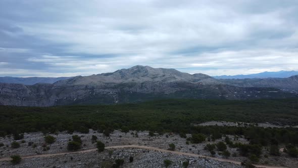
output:
[[[160,149],[150,146],[138,146],[138,145],[122,145],[122,146],[108,146],[105,149],[119,149],[119,148],[139,148],[139,149],[147,149],[147,150],[155,150],[155,151],[161,151],[161,152],[167,152],[167,153],[173,153],[173,154],[179,154],[179,155],[186,155],[186,156],[192,156],[192,157],[200,157],[200,158],[208,158],[212,160],[222,161],[222,162],[230,162],[234,164],[241,164],[239,161],[235,160],[229,160],[229,159],[223,159],[223,158],[216,158],[216,157],[210,157],[210,156],[204,156],[200,154],[193,154],[193,153],[185,153],[185,152],[179,152],[179,151],[171,151],[166,149]],[[35,157],[51,157],[51,156],[59,156],[59,155],[65,155],[65,154],[75,154],[75,153],[86,153],[91,151],[96,151],[97,149],[88,149],[88,150],[81,150],[81,151],[75,151],[75,152],[61,152],[61,153],[51,153],[51,154],[40,154],[40,155],[32,155],[32,156],[22,156],[22,159],[26,158],[35,158]],[[0,158],[0,161],[8,161],[11,160],[9,157]],[[269,165],[257,165],[256,167],[263,167],[263,168],[284,168],[284,167],[278,167],[278,166],[269,166]]]

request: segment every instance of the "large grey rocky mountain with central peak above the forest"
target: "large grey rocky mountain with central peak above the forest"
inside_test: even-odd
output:
[[[275,87],[262,87],[267,86],[266,82],[251,87],[258,82],[219,80],[202,73],[188,74],[175,69],[138,65],[112,73],[75,76],[53,84],[0,83],[0,105],[55,106],[168,98],[240,100],[297,97],[296,92],[281,90],[289,81],[277,80]],[[295,76],[290,81],[289,85],[298,86]]]

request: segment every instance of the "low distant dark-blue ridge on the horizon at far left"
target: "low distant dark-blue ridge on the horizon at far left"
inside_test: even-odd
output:
[[[36,83],[55,83],[59,80],[69,79],[71,77],[0,77],[1,83],[22,83],[24,85],[34,85]]]

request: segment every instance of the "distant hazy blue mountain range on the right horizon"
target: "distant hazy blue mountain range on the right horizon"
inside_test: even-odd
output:
[[[268,77],[280,77],[286,78],[290,76],[298,75],[298,71],[278,71],[278,72],[262,72],[249,75],[222,75],[222,76],[212,76],[217,79],[245,79],[245,78],[268,78]]]

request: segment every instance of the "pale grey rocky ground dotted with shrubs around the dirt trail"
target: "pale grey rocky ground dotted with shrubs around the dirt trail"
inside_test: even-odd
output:
[[[169,144],[174,143],[176,146],[176,151],[206,156],[211,156],[209,151],[204,150],[206,144],[224,141],[224,138],[222,138],[220,140],[216,140],[215,142],[206,141],[201,144],[189,143],[189,145],[187,145],[186,139],[181,138],[176,134],[156,134],[155,136],[151,137],[148,135],[148,132],[138,132],[138,136],[136,136],[135,133],[135,131],[130,131],[129,133],[114,131],[110,137],[106,137],[102,133],[94,132],[92,130],[90,130],[88,134],[67,134],[66,132],[61,132],[52,135],[56,138],[56,142],[50,145],[45,144],[43,138],[44,135],[42,133],[29,133],[24,134],[23,140],[25,142],[22,143],[22,140],[18,141],[20,142],[21,146],[17,149],[13,149],[10,146],[14,141],[13,137],[2,137],[0,138],[0,143],[4,143],[4,146],[0,147],[0,159],[10,157],[14,154],[19,154],[24,157],[38,154],[67,152],[67,143],[69,139],[71,139],[72,135],[81,136],[81,150],[95,148],[95,143],[92,144],[91,142],[92,135],[95,135],[97,136],[98,140],[105,143],[106,147],[119,145],[140,145],[168,149]],[[187,136],[189,137],[190,135]],[[234,139],[234,136],[229,137],[231,140]],[[35,145],[28,146],[28,142],[33,142],[36,147],[33,147]],[[247,141],[242,137],[239,137],[237,140],[233,140],[233,142],[247,143]],[[49,150],[44,151],[44,145],[48,146]],[[228,147],[228,151],[231,154],[236,153],[235,157],[230,156],[228,158],[230,160],[247,160],[247,158],[239,156],[236,148]],[[265,155],[267,155],[268,158],[264,157]],[[134,161],[131,163],[129,162],[130,156],[134,157]],[[216,152],[214,157],[223,158],[223,156],[219,155],[218,152]],[[131,148],[110,149],[102,153],[91,151],[86,153],[65,154],[51,157],[25,158],[22,159],[21,163],[18,165],[12,165],[10,161],[0,161],[0,167],[105,167],[105,165],[110,165],[115,162],[115,159],[117,158],[123,158],[125,160],[124,167],[162,167],[163,160],[165,159],[173,161],[171,167],[181,167],[182,162],[185,160],[189,160],[189,167],[239,167],[239,165],[236,164],[219,162],[212,159],[197,157],[194,158],[191,156],[177,155],[160,151]],[[288,157],[285,153],[282,153],[281,156],[271,156],[268,154],[267,149],[264,149],[259,164],[296,167],[296,165],[298,165],[298,160],[296,158]]]

